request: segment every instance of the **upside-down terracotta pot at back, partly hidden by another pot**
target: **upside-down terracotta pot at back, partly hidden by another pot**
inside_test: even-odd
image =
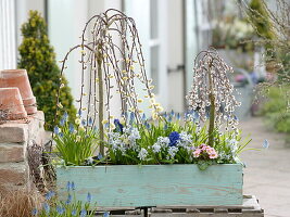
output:
[[[37,112],[36,98],[26,69],[5,69],[0,72],[0,88],[17,87],[20,89],[24,107],[27,114]]]

